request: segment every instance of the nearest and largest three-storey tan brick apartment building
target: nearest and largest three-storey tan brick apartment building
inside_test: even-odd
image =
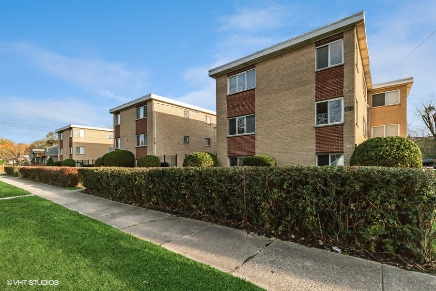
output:
[[[389,53],[387,49],[386,53]],[[209,70],[220,165],[346,165],[368,138],[406,136],[413,78],[373,84],[364,12]]]

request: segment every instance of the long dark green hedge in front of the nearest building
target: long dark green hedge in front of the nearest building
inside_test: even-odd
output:
[[[90,193],[428,262],[436,176],[383,167],[79,168]]]

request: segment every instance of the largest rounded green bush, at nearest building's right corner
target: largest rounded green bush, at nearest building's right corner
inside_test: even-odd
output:
[[[408,138],[374,137],[356,147],[350,165],[420,168],[422,155],[419,146]]]

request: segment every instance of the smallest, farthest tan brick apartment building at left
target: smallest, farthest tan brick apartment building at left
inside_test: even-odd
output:
[[[70,124],[56,129],[58,161],[73,159],[77,166],[93,164],[97,158],[113,150],[113,129]]]

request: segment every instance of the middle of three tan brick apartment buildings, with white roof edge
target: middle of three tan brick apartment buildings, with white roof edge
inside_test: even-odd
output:
[[[129,150],[136,159],[177,155],[171,165],[181,166],[185,155],[216,152],[214,111],[149,94],[109,113],[113,114],[114,148]]]

